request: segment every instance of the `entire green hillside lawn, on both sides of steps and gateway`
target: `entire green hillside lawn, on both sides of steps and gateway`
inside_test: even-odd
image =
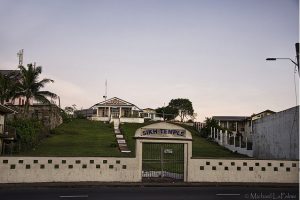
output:
[[[19,153],[24,156],[135,156],[135,131],[153,122],[125,123],[121,124],[128,148],[131,153],[121,153],[118,149],[113,124],[74,119],[64,123],[53,130],[50,137],[45,138],[35,148],[27,152]],[[246,157],[207,141],[190,126],[180,125],[188,129],[193,137],[193,157]]]

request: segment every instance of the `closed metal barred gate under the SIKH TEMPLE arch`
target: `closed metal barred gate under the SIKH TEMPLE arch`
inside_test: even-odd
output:
[[[143,181],[183,181],[184,144],[143,143]]]

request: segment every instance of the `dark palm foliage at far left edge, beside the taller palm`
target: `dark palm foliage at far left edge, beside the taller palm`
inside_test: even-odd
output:
[[[0,74],[0,103],[13,99],[16,92],[16,73]]]

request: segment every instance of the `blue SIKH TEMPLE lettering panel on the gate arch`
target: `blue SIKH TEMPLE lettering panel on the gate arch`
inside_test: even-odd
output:
[[[175,137],[186,137],[185,130],[183,129],[143,129],[142,136],[175,136]]]

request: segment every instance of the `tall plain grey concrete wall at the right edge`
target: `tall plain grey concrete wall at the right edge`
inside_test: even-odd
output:
[[[299,106],[254,122],[253,157],[299,159]]]

